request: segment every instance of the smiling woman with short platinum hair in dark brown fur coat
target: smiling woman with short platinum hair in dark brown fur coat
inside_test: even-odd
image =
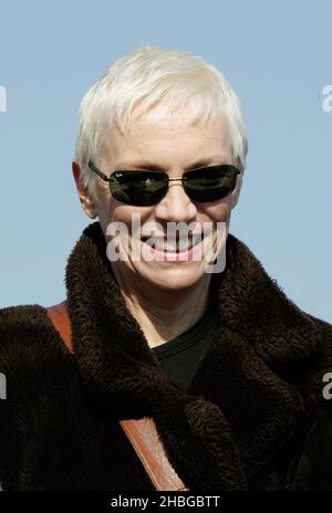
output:
[[[198,57],[137,49],[86,93],[73,176],[97,221],[68,260],[66,333],[54,308],[0,312],[3,490],[154,490],[123,429],[145,418],[193,491],[332,486],[332,328],[229,234],[246,154]]]

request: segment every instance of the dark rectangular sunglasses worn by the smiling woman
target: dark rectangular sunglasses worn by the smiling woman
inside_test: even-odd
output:
[[[241,172],[230,164],[201,167],[184,172],[181,178],[168,178],[163,171],[120,171],[110,178],[92,160],[89,167],[108,182],[112,196],[127,205],[146,207],[158,203],[167,193],[169,181],[181,181],[188,197],[195,202],[216,201],[230,195]]]

